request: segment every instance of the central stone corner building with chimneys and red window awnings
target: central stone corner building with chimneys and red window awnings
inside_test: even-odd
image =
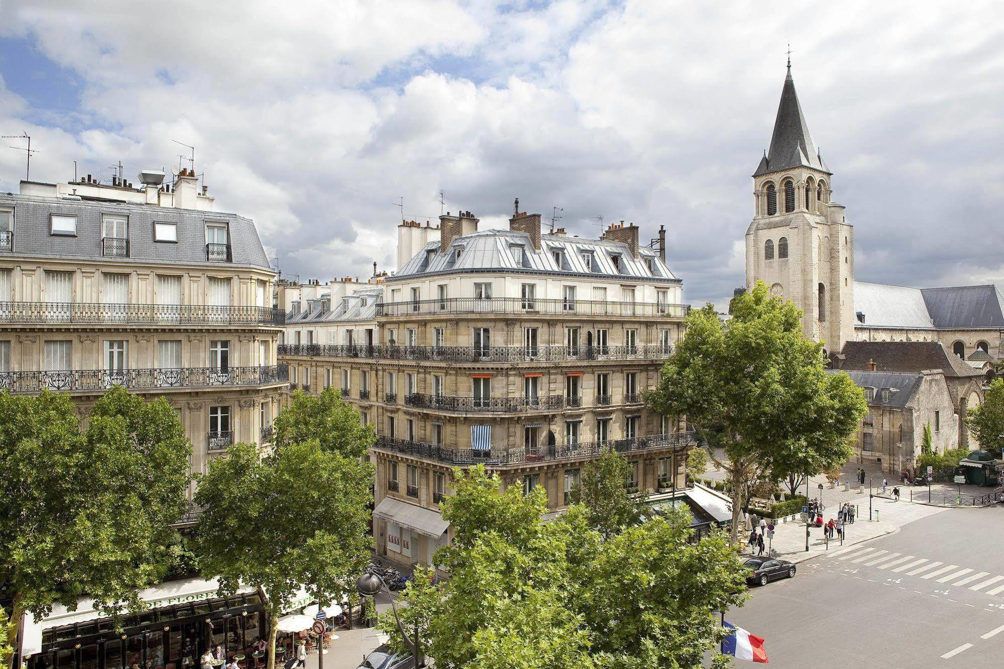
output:
[[[609,447],[632,463],[633,487],[684,486],[693,435],[647,409],[643,393],[687,307],[637,226],[582,239],[518,211],[508,230],[478,230],[463,212],[438,228],[404,222],[399,240],[399,270],[379,292],[359,287],[318,311],[310,324],[322,321],[326,341],[288,344],[308,324],[290,314],[280,348],[311,392],[340,389],[376,430],[381,554],[430,563],[449,540],[439,507],[454,466],[541,485],[552,512]]]

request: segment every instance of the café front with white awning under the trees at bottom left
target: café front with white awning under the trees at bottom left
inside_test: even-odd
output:
[[[253,667],[251,645],[268,633],[261,599],[253,588],[230,597],[218,589],[202,579],[148,588],[143,609],[119,615],[117,630],[90,600],[75,611],[56,605],[38,622],[26,615],[20,657],[28,669],[198,669],[202,654],[219,646]]]

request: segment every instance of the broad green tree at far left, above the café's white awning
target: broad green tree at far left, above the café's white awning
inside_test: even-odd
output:
[[[178,414],[109,390],[81,430],[65,394],[0,394],[0,579],[13,619],[92,598],[114,615],[167,571],[191,446]]]

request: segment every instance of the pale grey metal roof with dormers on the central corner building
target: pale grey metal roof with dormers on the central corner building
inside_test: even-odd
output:
[[[388,280],[436,273],[501,269],[512,272],[547,272],[607,278],[630,276],[649,281],[680,282],[659,254],[651,248],[640,248],[639,257],[636,259],[628,249],[628,245],[620,242],[547,234],[541,236],[540,246],[539,251],[534,249],[529,235],[524,232],[479,230],[454,238],[446,252],[440,252],[438,240],[430,242]],[[522,263],[517,263],[513,247],[522,248]],[[460,257],[457,257],[458,249]],[[562,251],[560,266],[554,261],[552,252],[555,250]],[[586,267],[583,254],[591,257],[591,269]],[[613,256],[619,257],[619,271],[613,267]],[[649,268],[650,261],[655,267],[655,272]]]

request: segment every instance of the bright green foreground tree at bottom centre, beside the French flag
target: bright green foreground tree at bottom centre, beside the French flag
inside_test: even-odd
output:
[[[616,468],[596,471],[622,485]],[[683,508],[604,536],[579,504],[541,522],[542,488],[500,490],[482,467],[455,477],[443,507],[455,540],[435,558],[451,578],[420,572],[402,597],[404,626],[437,667],[699,666],[721,639],[715,612],[744,601],[727,538],[692,542]],[[393,615],[380,626],[403,647]]]

